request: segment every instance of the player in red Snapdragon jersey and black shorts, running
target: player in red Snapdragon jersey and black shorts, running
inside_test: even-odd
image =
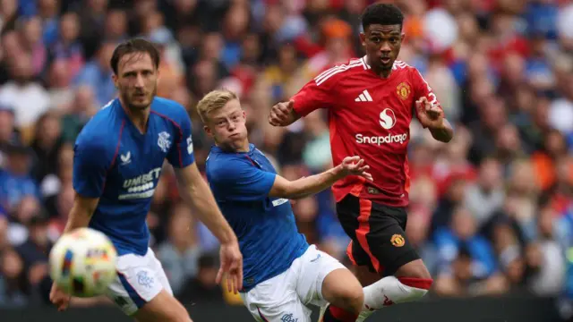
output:
[[[358,321],[384,306],[418,300],[432,285],[405,234],[406,152],[414,117],[435,140],[449,142],[453,130],[420,72],[397,60],[403,21],[393,4],[368,6],[360,34],[366,55],[322,72],[269,114],[269,123],[286,126],[326,108],[334,164],[360,156],[371,166],[373,182],[348,176],[332,187],[338,219],[352,239],[347,254],[369,285]]]

